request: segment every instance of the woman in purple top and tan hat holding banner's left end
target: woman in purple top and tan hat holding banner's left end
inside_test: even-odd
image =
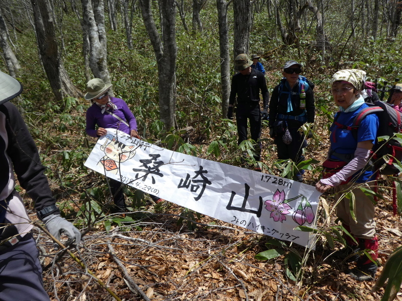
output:
[[[109,96],[108,92],[112,84],[105,84],[100,78],[94,78],[86,84],[85,99],[91,100],[92,105],[86,111],[86,133],[98,138],[107,133],[106,128],[116,128],[140,139],[137,132],[137,120],[127,103],[120,98]],[[96,129],[96,125],[98,128]],[[110,190],[115,203],[113,212],[127,212],[126,200],[122,183],[109,178]],[[157,196],[150,197],[159,203],[163,199]]]

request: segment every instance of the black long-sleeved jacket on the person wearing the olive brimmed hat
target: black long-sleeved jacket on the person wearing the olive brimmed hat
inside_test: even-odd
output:
[[[261,71],[251,69],[249,75],[240,72],[232,77],[229,104],[234,104],[237,95],[237,103],[253,103],[260,101],[260,90],[263,106],[268,106],[269,92],[264,74]]]

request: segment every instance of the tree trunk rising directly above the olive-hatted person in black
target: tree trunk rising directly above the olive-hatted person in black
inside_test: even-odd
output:
[[[248,54],[250,38],[250,2],[245,0],[233,1],[234,16],[234,57],[241,53]]]

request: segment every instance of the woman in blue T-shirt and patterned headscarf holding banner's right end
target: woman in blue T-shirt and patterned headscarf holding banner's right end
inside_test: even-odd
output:
[[[331,148],[323,164],[325,179],[316,184],[316,189],[322,193],[332,187],[335,189],[339,202],[336,215],[357,244],[345,235],[346,246],[333,256],[356,261],[356,267],[348,270],[347,274],[359,281],[374,279],[378,267],[375,262],[378,257],[378,239],[375,234],[374,205],[360,190],[360,187],[370,189],[373,184],[370,181],[376,177],[374,169],[366,167],[366,164],[376,139],[378,117],[375,114],[367,115],[355,136],[348,128],[359,111],[368,107],[361,96],[364,78],[365,72],[356,69],[340,70],[331,78],[332,96],[339,105],[339,112],[330,128]],[[330,172],[330,169],[337,172]],[[355,197],[356,221],[350,213],[349,199],[341,198],[348,191],[352,191]],[[363,250],[368,251],[371,258]]]

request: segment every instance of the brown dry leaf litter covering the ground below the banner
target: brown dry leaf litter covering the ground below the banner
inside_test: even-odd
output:
[[[320,118],[316,122],[317,132],[322,137],[327,136],[324,122],[324,118],[321,125]],[[266,131],[264,129],[263,136],[268,137]],[[275,159],[275,151],[271,141],[264,143],[265,159],[270,155],[270,161],[265,163],[269,165]],[[323,138],[316,146],[307,148],[306,157],[315,156],[323,162],[329,142]],[[305,174],[307,184],[314,185],[317,179],[318,175],[310,171]],[[400,218],[392,215],[389,189],[382,193],[384,200],[376,206],[380,246],[377,276],[388,255],[402,245]],[[331,207],[333,197],[324,197]],[[79,199],[78,194],[73,198]],[[149,214],[132,213],[134,222],[113,223],[109,231],[102,224],[94,227],[84,236],[79,252],[75,251],[88,269],[122,300],[144,299],[130,281],[154,301],[379,300],[383,294],[383,289],[370,293],[374,282],[358,282],[348,277],[344,273],[348,264],[331,261],[328,258],[331,250],[324,236],[320,237],[316,251],[310,253],[302,280],[295,283],[286,277],[283,255],[269,261],[254,258],[267,249],[268,236],[208,216],[197,219],[191,229],[186,220],[178,222],[183,208],[169,202],[149,201],[142,209]],[[319,216],[319,228],[328,229],[333,225],[333,217],[330,217],[332,224],[326,223],[322,206]],[[36,217],[32,215],[32,218]],[[34,230],[42,265],[51,265],[44,272],[44,285],[52,300],[114,299],[68,255],[53,262],[56,251],[51,241],[37,228]],[[302,256],[305,253],[303,247],[292,247]],[[397,299],[402,300],[399,296]]]

